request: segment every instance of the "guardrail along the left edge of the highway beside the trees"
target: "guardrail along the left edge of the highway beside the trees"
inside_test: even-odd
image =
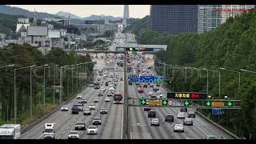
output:
[[[84,86],[82,88],[82,90],[84,90],[88,85],[89,84],[86,84],[86,86]],[[62,105],[66,105],[68,102],[70,102],[72,99],[74,99],[79,93],[81,93],[82,90],[78,90],[78,93],[74,94],[70,99],[66,100],[66,102],[62,102],[57,108],[55,108],[54,110],[51,110],[50,113],[42,116],[41,118],[38,118],[38,120],[31,123],[29,126],[26,126],[25,128],[23,128],[22,134],[26,133],[26,131],[28,131],[28,130],[31,130],[34,126],[37,126],[40,122],[43,122],[44,120],[46,120],[46,118],[49,118],[52,114],[56,113],[58,110],[60,110]]]

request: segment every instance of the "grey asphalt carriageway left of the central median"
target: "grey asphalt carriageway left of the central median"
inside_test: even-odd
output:
[[[120,69],[120,68],[119,68]],[[119,73],[119,78],[123,78],[123,70]],[[103,80],[105,82],[107,78]],[[119,81],[115,91],[121,92],[123,95],[123,82]],[[93,98],[98,97],[99,102],[94,103],[96,110],[91,110],[91,115],[83,115],[82,111],[79,114],[71,114],[71,107],[79,102],[80,100],[74,98],[72,99],[67,106],[69,111],[60,111],[52,114],[45,121],[34,126],[33,129],[27,131],[25,134],[22,134],[22,139],[42,139],[44,130],[44,123],[53,122],[55,123],[55,138],[57,139],[67,139],[68,134],[71,130],[74,130],[75,122],[86,122],[86,127],[92,125],[92,119],[94,117],[99,117],[102,119],[102,125],[98,125],[98,134],[86,134],[86,130],[78,130],[81,139],[121,139],[122,138],[122,112],[123,105],[117,105],[113,103],[112,97],[110,102],[105,102],[106,94],[108,92],[109,86],[106,86],[106,91],[104,96],[98,97],[98,91],[100,89],[94,89],[94,87],[86,87],[85,90],[82,90],[82,98],[87,99],[87,103],[84,104],[84,108],[88,108],[89,104],[93,102]],[[99,114],[101,108],[106,108],[108,114]]]

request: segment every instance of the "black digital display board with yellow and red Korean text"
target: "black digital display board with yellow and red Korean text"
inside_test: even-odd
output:
[[[197,93],[197,92],[170,92],[167,93],[167,98],[176,98],[176,99],[206,99],[206,93]]]

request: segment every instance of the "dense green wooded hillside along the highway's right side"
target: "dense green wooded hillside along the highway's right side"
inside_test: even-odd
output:
[[[187,69],[186,81],[184,70],[175,69],[175,75],[168,74],[173,80],[166,83],[171,91],[206,92],[206,68],[220,70],[224,67],[241,72],[241,86],[238,89],[238,73],[227,70],[221,72],[221,98],[241,99],[241,110],[225,110],[220,116],[220,124],[239,137],[256,138],[256,79],[255,74],[240,71],[240,69],[256,71],[256,12],[242,14],[229,18],[226,23],[203,34],[178,34],[171,36],[146,30],[142,33],[141,44],[166,44],[166,51],[158,52],[159,58],[166,58],[172,66],[200,68]],[[160,69],[158,73],[162,73]],[[209,71],[209,95],[218,98],[218,73]],[[218,123],[218,116],[212,115],[211,110],[200,110],[207,117]],[[226,119],[228,118],[228,119]]]

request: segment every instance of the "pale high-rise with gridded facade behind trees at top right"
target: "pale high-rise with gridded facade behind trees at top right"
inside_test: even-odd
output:
[[[252,8],[254,5],[198,5],[198,34],[213,30],[226,19]]]

